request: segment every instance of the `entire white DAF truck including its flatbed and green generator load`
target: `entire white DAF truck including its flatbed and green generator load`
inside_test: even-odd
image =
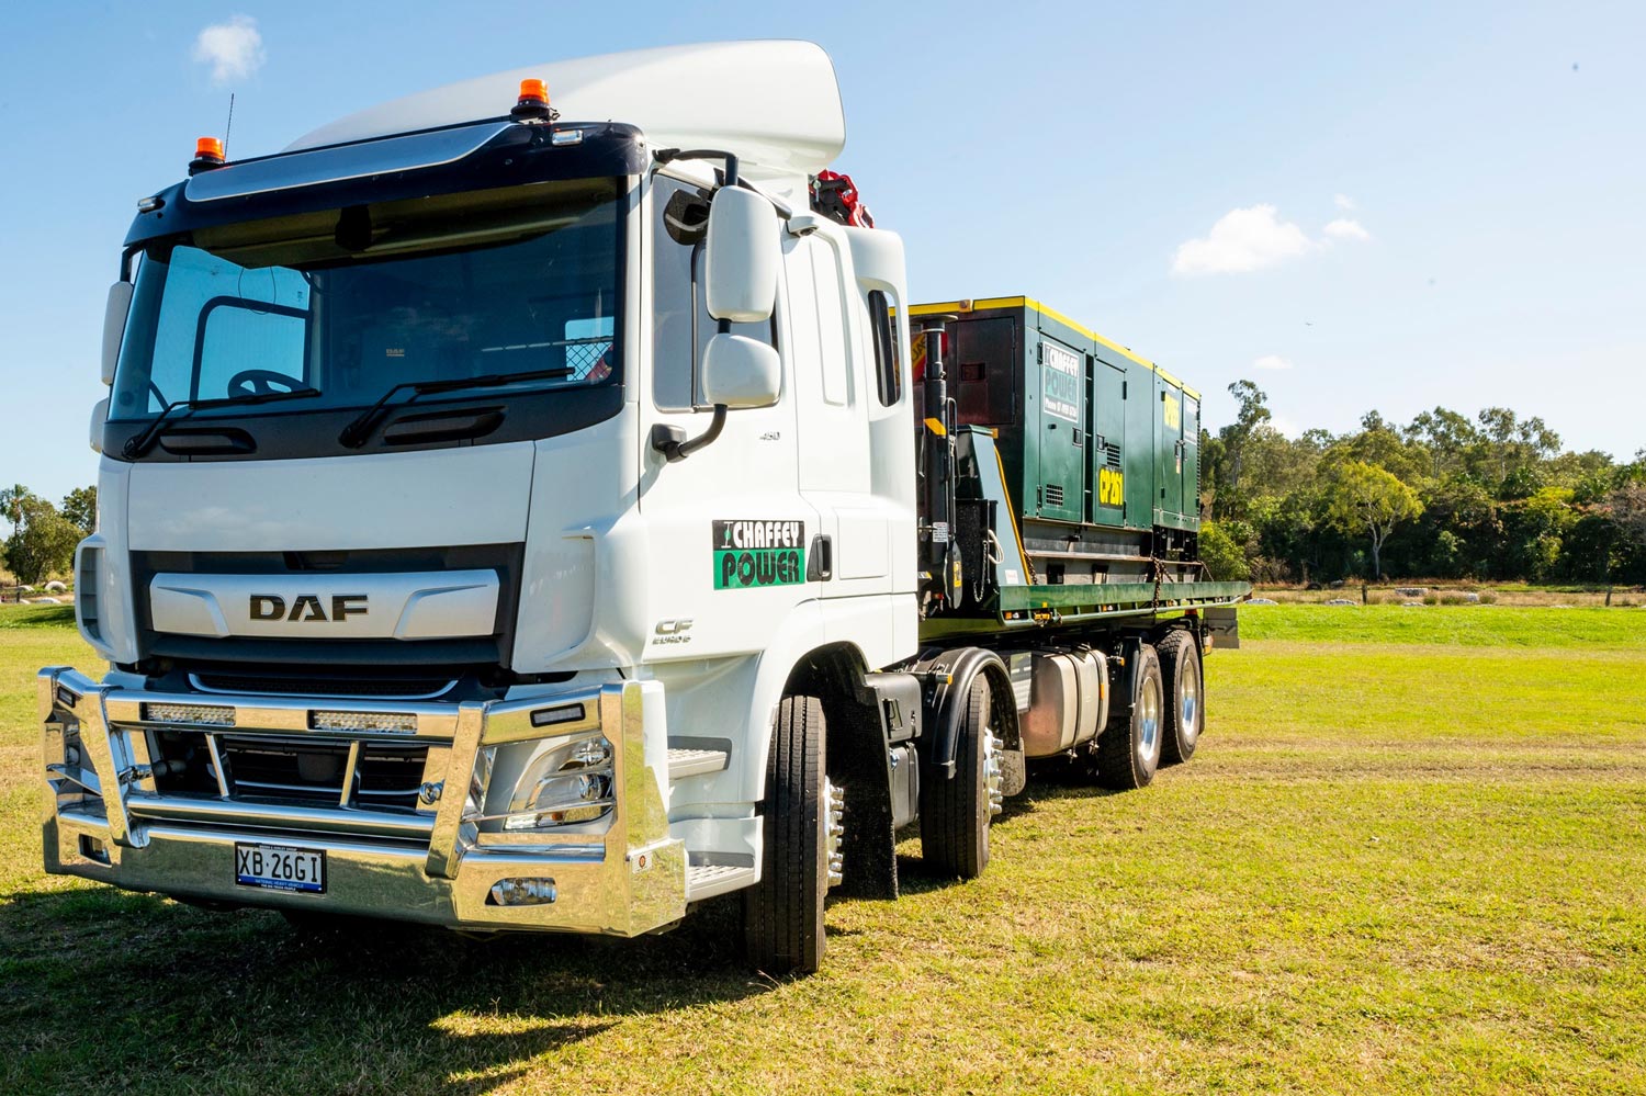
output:
[[[843,143],[788,41],[202,142],[109,295],[110,665],[41,671],[46,869],[471,931],[741,890],[749,959],[810,971],[905,826],[969,877],[1030,760],[1187,759],[1246,587],[1121,497],[1169,426],[1197,479],[1198,398],[1025,298],[914,308]],[[1101,469],[1040,484],[1070,434]]]

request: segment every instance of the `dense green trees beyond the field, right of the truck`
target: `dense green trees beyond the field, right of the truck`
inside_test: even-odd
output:
[[[1267,397],[1202,430],[1200,548],[1216,578],[1646,583],[1646,449],[1569,453],[1541,418],[1437,406],[1397,425],[1274,428]]]

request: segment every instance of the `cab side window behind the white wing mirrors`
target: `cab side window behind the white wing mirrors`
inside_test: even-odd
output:
[[[652,400],[667,411],[708,410],[703,347],[719,329],[703,300],[703,239],[709,196],[668,176],[652,183]],[[777,346],[777,316],[732,324],[732,334]]]

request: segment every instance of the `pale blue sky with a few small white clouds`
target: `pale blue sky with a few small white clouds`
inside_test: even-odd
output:
[[[561,58],[810,38],[915,301],[1027,295],[1287,433],[1445,405],[1646,446],[1641,3],[79,3],[0,39],[0,484],[94,482],[104,298],[199,135]]]

